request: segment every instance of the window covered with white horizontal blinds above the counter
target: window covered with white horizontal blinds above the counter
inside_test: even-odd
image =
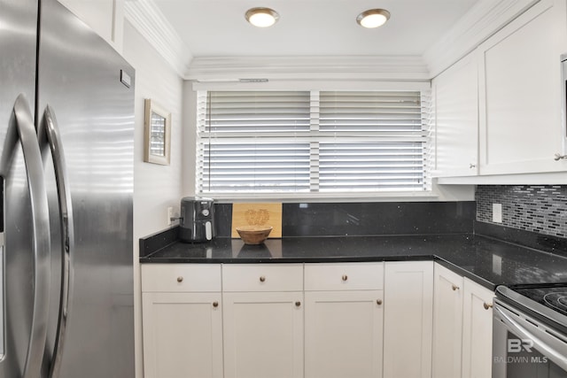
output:
[[[199,91],[198,193],[429,190],[428,104],[420,91]]]

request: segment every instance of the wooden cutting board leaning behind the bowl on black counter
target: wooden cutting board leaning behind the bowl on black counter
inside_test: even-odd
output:
[[[232,204],[232,237],[238,226],[271,226],[268,237],[282,237],[282,204]]]

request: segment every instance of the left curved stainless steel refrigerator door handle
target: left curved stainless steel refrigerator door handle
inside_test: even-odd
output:
[[[10,126],[0,158],[0,174],[7,177],[18,141],[21,143],[27,171],[27,187],[32,209],[34,238],[34,304],[22,378],[40,376],[47,339],[50,304],[50,220],[47,191],[43,179],[42,155],[37,143],[34,120],[26,96],[19,95],[13,107]],[[10,235],[5,235],[6,239]],[[10,253],[10,251],[6,251]],[[6,351],[9,353],[10,351]]]

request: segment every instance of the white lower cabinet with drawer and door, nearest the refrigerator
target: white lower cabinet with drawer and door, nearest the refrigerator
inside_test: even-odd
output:
[[[145,378],[222,378],[221,267],[142,266]]]

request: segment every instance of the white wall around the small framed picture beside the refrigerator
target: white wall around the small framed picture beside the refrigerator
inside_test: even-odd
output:
[[[138,239],[167,228],[167,206],[179,212],[182,197],[183,80],[137,30],[124,22],[123,56],[136,68],[134,137],[134,308],[136,314],[136,377],[143,377],[142,311]],[[171,112],[169,166],[144,163],[144,99],[151,98]]]

